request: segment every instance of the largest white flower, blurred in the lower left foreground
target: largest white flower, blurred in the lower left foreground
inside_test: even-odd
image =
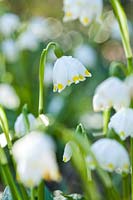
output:
[[[50,136],[31,132],[19,139],[12,149],[19,180],[28,187],[37,186],[44,178],[59,181],[55,146]]]

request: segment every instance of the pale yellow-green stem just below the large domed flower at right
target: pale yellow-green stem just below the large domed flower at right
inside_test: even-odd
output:
[[[106,109],[103,112],[103,134],[107,134],[108,131],[108,123],[110,119],[110,109]]]

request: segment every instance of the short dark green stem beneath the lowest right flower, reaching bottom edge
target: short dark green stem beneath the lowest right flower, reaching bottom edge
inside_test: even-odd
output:
[[[123,190],[123,200],[130,200],[130,188],[129,188],[128,174],[122,176],[122,190]]]

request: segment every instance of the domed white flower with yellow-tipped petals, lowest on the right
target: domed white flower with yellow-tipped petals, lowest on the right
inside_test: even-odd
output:
[[[109,172],[116,171],[119,173],[129,172],[130,161],[127,150],[114,139],[100,139],[91,146],[93,155],[99,165]],[[88,165],[95,164],[92,158],[88,157]],[[89,163],[90,160],[90,163]]]

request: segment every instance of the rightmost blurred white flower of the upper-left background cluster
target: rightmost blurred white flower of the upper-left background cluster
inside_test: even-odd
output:
[[[32,32],[39,40],[44,41],[46,39],[46,22],[43,17],[33,17],[30,20],[27,29],[29,32]]]

